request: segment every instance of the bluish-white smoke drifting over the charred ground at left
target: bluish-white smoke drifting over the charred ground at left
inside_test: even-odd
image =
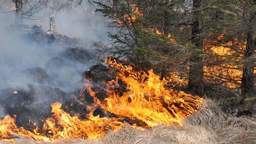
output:
[[[5,5],[11,7],[14,3]],[[55,14],[58,31],[82,41],[79,48],[73,48],[57,42],[31,40],[28,31],[17,31],[10,27],[14,18],[14,12],[0,13],[0,99],[15,101],[12,99],[15,94],[10,92],[17,90],[19,94],[19,90],[29,92],[33,88],[33,95],[37,97],[31,105],[50,105],[53,99],[59,97],[49,94],[48,90],[53,90],[56,95],[65,92],[62,95],[69,96],[69,93],[82,88],[82,73],[95,64],[94,42],[106,40],[108,19],[95,13],[94,7],[88,2],[71,11]],[[40,24],[47,32],[48,20],[49,17],[45,17],[41,20],[24,20],[23,23]],[[0,117],[6,114],[3,107],[3,104],[0,105]]]

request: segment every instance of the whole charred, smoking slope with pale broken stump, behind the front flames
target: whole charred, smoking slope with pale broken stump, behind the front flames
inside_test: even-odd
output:
[[[61,34],[57,30],[53,15],[50,17],[50,29],[47,32],[42,30],[41,25],[12,25],[9,27],[11,32],[20,29],[23,30],[23,33],[19,37],[23,37],[24,42],[46,45],[43,48],[61,47],[61,51],[51,55],[52,57],[45,62],[44,69],[35,66],[15,72],[26,82],[20,83],[19,79],[15,85],[9,84],[10,86],[0,90],[0,106],[3,113],[1,116],[16,116],[17,127],[33,130],[36,123],[42,130],[43,120],[52,115],[51,104],[60,102],[62,109],[71,116],[86,119],[86,114],[91,112],[87,110],[87,107],[94,104],[94,101],[87,90],[81,92],[81,89],[84,88],[83,81],[91,79],[91,84],[94,85],[93,90],[98,91],[97,99],[104,101],[108,96],[105,84],[116,80],[117,77],[117,70],[102,64],[91,66],[88,69],[96,61],[97,48],[102,44],[86,43],[79,38]],[[17,76],[13,77],[15,79]],[[8,80],[6,79],[6,83]],[[127,92],[126,85],[121,80],[118,80],[118,83],[118,87],[116,85],[112,85],[112,87],[115,87],[114,90],[122,96],[123,92]],[[100,107],[96,107],[93,114],[100,117],[117,117]],[[143,122],[128,117],[124,120],[131,124],[143,125]]]

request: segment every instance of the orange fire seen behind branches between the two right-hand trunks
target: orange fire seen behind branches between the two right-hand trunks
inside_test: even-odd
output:
[[[233,37],[232,41],[218,45],[218,40],[223,40],[225,33],[226,31],[219,35],[216,40],[210,41],[210,43],[204,45],[205,51],[216,55],[212,61],[221,63],[220,65],[204,66],[205,80],[212,79],[210,77],[214,76],[214,79],[223,81],[224,86],[237,88],[241,84],[243,73],[241,69],[242,65],[235,65],[228,61],[240,62],[242,60],[246,41],[241,41],[237,37]],[[236,47],[237,50],[232,49],[232,47]],[[233,56],[235,54],[237,54],[237,56]],[[231,79],[235,80],[235,82],[231,82]]]

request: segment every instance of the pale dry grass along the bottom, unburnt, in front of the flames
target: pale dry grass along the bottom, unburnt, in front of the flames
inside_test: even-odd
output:
[[[80,138],[58,140],[55,143],[73,144],[219,144],[219,143],[256,143],[255,119],[226,116],[215,102],[204,100],[201,110],[186,119],[182,127],[159,125],[140,131],[126,126],[119,131],[110,131],[97,141]],[[28,138],[17,139],[18,144],[36,144]]]

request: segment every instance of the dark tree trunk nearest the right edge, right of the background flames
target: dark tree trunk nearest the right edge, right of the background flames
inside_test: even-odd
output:
[[[254,1],[254,4],[256,2]],[[252,6],[253,8],[253,6]],[[243,68],[242,76],[242,90],[241,97],[238,99],[239,104],[243,104],[247,96],[253,96],[254,90],[254,79],[253,79],[253,70],[254,70],[254,60],[252,58],[255,51],[255,43],[253,38],[253,24],[255,23],[256,11],[253,10],[250,14],[250,20],[247,22],[247,37],[246,37],[246,48],[245,48],[245,64]]]

